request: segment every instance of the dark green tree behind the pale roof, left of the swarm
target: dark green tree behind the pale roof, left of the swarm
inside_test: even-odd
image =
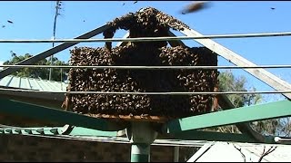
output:
[[[25,53],[25,55],[13,55],[13,58],[10,61],[6,61],[3,64],[11,65],[17,62],[24,61],[27,58],[32,57],[33,55],[29,53]],[[39,62],[35,62],[37,65],[50,65],[50,62],[46,59],[40,60]],[[59,61],[56,57],[53,58],[52,65],[68,65],[68,63]],[[59,69],[55,68],[52,71],[52,81],[65,81],[66,73],[68,69]],[[49,75],[49,68],[22,68],[18,72],[12,73],[15,76],[19,77],[30,77],[30,78],[38,78],[42,80],[47,80]]]

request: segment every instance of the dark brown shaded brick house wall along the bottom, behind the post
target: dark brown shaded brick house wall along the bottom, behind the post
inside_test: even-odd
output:
[[[0,145],[1,161],[130,161],[130,144],[1,135]],[[151,146],[151,161],[173,158],[174,147]]]

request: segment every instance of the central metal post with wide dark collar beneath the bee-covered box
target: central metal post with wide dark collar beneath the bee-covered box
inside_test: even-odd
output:
[[[150,122],[133,122],[126,129],[127,138],[131,142],[131,162],[149,162],[150,146],[157,136]]]

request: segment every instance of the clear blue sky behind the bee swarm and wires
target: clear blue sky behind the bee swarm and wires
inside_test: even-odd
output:
[[[287,1],[213,1],[210,7],[194,14],[180,14],[190,1],[64,1],[57,17],[56,39],[71,39],[85,34],[109,21],[140,8],[151,6],[176,17],[201,34],[248,34],[291,31],[291,2]],[[271,9],[275,8],[275,9]],[[1,1],[0,39],[51,39],[55,17],[55,1]],[[7,21],[12,21],[13,24]],[[5,27],[3,26],[5,25]],[[125,32],[117,32],[115,38]],[[183,35],[178,34],[177,35]],[[94,38],[102,38],[99,34]],[[231,51],[257,65],[290,64],[291,37],[215,39]],[[58,43],[55,43],[58,44]],[[78,43],[76,46],[103,46],[104,43]],[[186,45],[199,46],[195,41]],[[0,43],[0,62],[11,59],[11,51],[23,55],[42,53],[52,43]],[[55,57],[67,62],[68,48]],[[218,65],[233,65],[219,57]],[[267,69],[291,83],[290,69]],[[257,91],[272,91],[243,70],[232,70],[236,76],[245,76],[247,87]],[[269,96],[281,98],[281,96]]]

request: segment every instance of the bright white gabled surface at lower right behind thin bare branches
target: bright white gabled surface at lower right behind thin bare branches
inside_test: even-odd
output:
[[[244,162],[245,160],[246,162],[257,162],[264,151],[264,147],[267,150],[271,146],[216,142],[210,149],[203,152],[202,156],[200,154],[196,162]],[[291,162],[291,145],[276,145],[276,147],[276,150],[264,157],[262,162]]]

